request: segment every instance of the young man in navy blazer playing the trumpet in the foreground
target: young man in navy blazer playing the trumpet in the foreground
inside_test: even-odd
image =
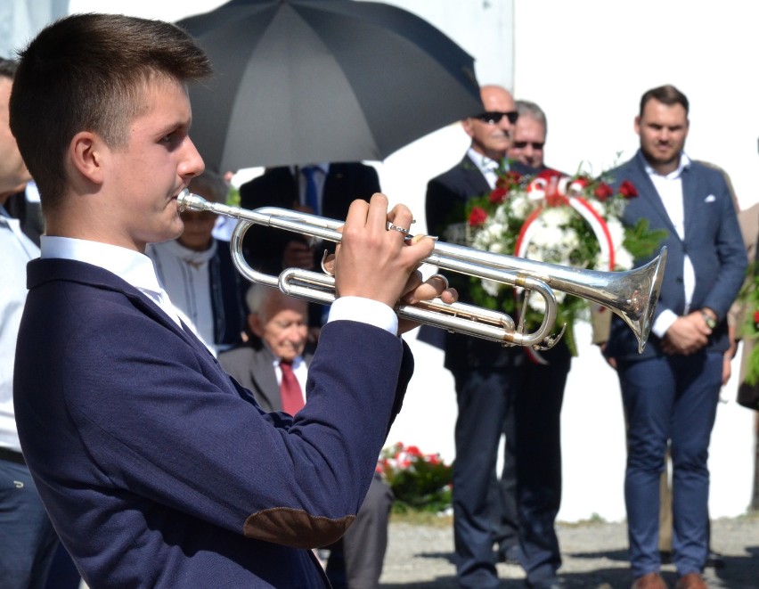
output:
[[[176,199],[204,168],[187,86],[209,74],[182,29],[124,15],[57,20],[22,53],[11,129],[45,235],[16,352],[21,450],[89,586],[323,589],[310,549],[369,488],[412,371],[393,306],[443,292],[410,281],[434,242],[388,230],[412,213],[385,195],[351,205],[308,405],[265,413],[144,255],[183,231]]]

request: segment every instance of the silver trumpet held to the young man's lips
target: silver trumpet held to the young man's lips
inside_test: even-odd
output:
[[[238,271],[249,281],[278,288],[290,296],[324,305],[329,305],[335,300],[335,279],[330,274],[299,268],[287,268],[279,276],[257,272],[242,255],[242,239],[250,226],[264,225],[339,242],[342,235],[338,229],[344,225],[343,221],[276,207],[254,210],[231,207],[208,202],[186,189],[179,195],[177,202],[180,211],[211,211],[240,221],[232,234],[232,257]],[[523,320],[516,325],[514,320],[504,313],[458,302],[448,304],[441,299],[422,301],[415,305],[398,304],[396,313],[399,317],[417,323],[499,341],[504,346],[547,349],[554,346],[564,332],[562,328],[558,336],[551,336],[557,313],[553,290],[560,290],[608,307],[619,315],[635,333],[638,351],[642,352],[649,339],[651,322],[664,277],[665,260],[666,248],[662,248],[657,258],[644,266],[627,272],[602,272],[536,262],[438,241],[432,255],[424,262],[436,265],[441,270],[486,278],[525,289],[525,305],[527,297],[531,293],[537,293],[545,302],[543,323],[535,331],[525,333]],[[522,317],[524,315],[526,314],[520,314]]]

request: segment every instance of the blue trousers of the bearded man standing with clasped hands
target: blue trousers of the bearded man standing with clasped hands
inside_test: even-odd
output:
[[[624,500],[634,577],[657,571],[659,482],[667,440],[673,464],[673,563],[701,572],[708,554],[709,438],[722,382],[722,353],[621,362],[628,421]]]

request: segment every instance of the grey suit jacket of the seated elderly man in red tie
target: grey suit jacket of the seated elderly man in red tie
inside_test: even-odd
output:
[[[303,359],[311,365],[314,353],[306,350]],[[243,387],[256,397],[264,411],[282,411],[282,397],[277,375],[274,372],[274,355],[269,348],[254,338],[248,344],[219,354],[219,364]]]

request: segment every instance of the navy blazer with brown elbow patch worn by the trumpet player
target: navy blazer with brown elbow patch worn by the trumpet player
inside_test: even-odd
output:
[[[363,502],[411,375],[401,339],[327,324],[292,419],[265,413],[118,276],[38,259],[28,283],[19,436],[86,583],[328,586],[306,549],[339,538]]]

